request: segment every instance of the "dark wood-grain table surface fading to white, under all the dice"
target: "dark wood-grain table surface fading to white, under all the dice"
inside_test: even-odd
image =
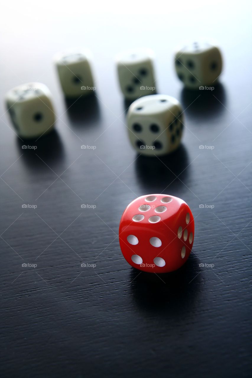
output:
[[[75,1],[22,2],[1,15],[3,377],[252,374],[251,9],[144,4],[92,15]],[[183,90],[174,73],[176,46],[199,37],[224,56],[213,91]],[[182,145],[160,160],[138,156],[124,125],[114,56],[138,47],[156,53],[157,91],[185,109]],[[52,56],[67,48],[93,51],[94,96],[62,96]],[[31,81],[50,88],[59,117],[35,151],[22,149],[3,105]],[[152,193],[183,198],[195,218],[187,263],[159,276],[131,268],[118,243],[124,208]]]

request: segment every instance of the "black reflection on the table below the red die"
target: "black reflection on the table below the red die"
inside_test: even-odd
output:
[[[171,273],[153,274],[132,268],[129,275],[135,305],[142,312],[166,317],[192,314],[202,283],[199,259],[192,252],[187,262]]]

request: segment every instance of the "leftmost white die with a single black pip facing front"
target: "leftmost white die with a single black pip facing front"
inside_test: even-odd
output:
[[[13,127],[21,137],[36,138],[53,128],[52,96],[46,85],[20,85],[6,93],[5,101]]]

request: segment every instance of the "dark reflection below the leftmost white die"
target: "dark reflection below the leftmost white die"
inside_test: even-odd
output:
[[[53,167],[58,162],[64,164],[64,146],[55,129],[48,134],[40,136],[39,139],[21,140],[17,138],[16,141],[23,161],[31,170],[37,170],[38,168],[48,170],[46,164],[50,167]]]

